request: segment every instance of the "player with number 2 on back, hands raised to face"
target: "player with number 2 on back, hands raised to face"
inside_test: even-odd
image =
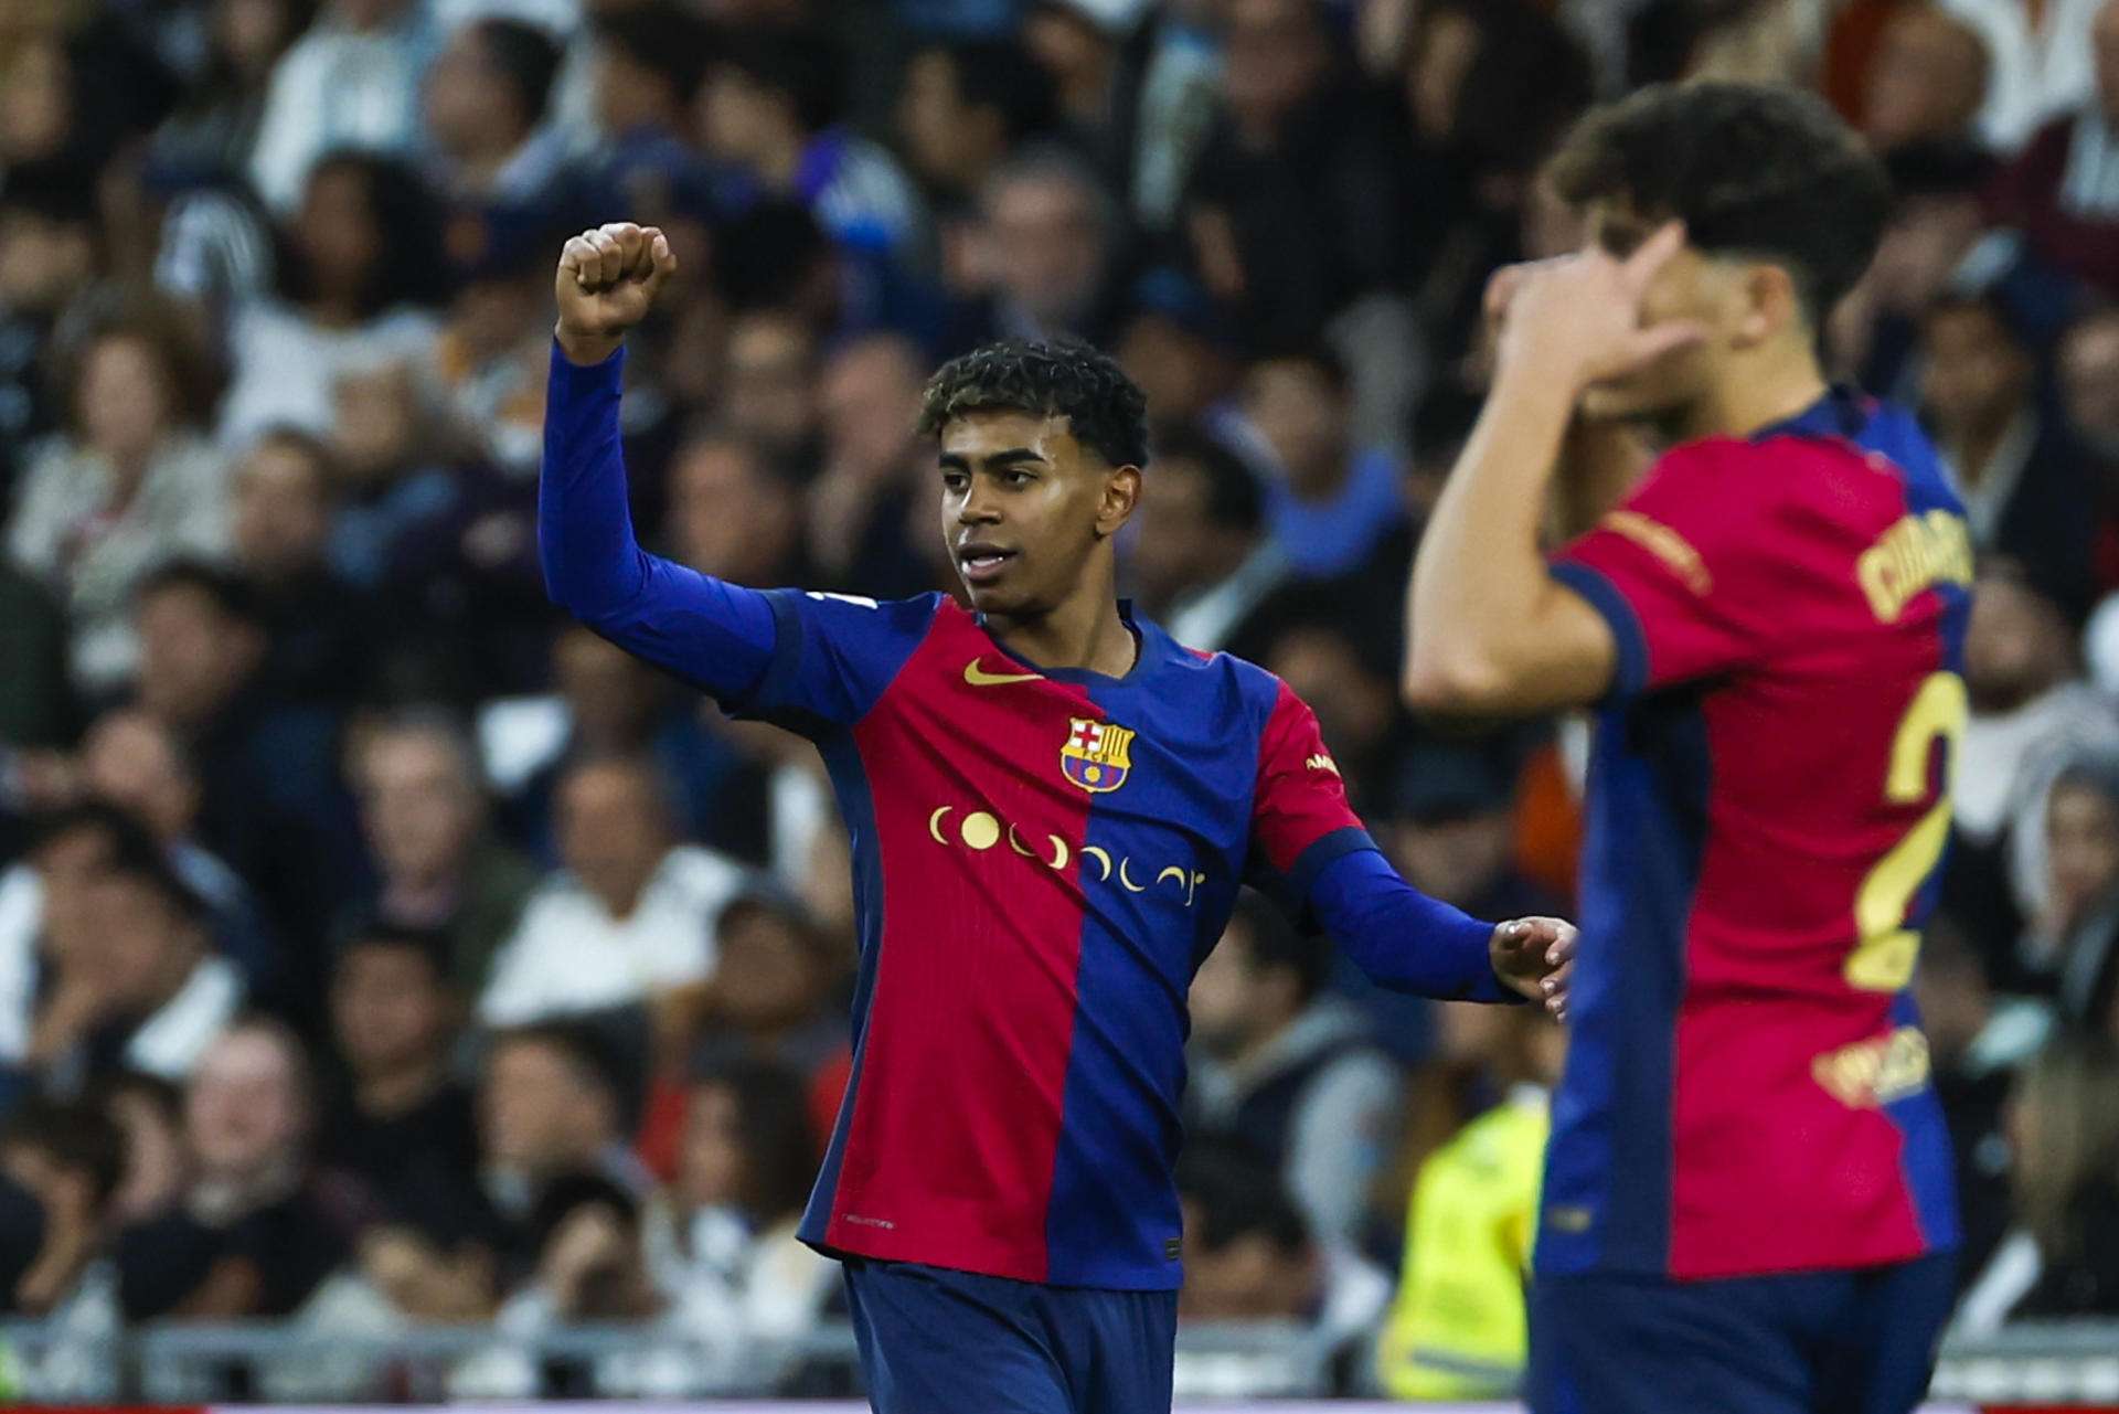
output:
[[[1949,1306],[1949,1141],[1907,979],[1964,731],[1971,545],[1818,333],[1886,189],[1822,102],[1644,89],[1551,165],[1572,257],[1496,278],[1494,386],[1411,581],[1407,695],[1598,706],[1538,1414],[1899,1414]],[[1555,477],[1610,492],[1553,562]]]

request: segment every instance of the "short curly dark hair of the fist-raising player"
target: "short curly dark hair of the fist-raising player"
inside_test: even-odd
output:
[[[941,365],[920,401],[920,435],[951,418],[1019,411],[1066,418],[1074,441],[1110,466],[1148,464],[1148,399],[1108,354],[1087,343],[1002,339]]]

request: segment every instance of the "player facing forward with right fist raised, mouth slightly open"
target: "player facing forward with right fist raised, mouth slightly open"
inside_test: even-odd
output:
[[[1170,1408],[1185,996],[1254,880],[1373,977],[1564,1007],[1572,929],[1399,880],[1278,678],[1115,591],[1144,399],[1087,348],[943,367],[939,530],[971,608],[742,589],[640,551],[619,460],[655,229],[566,244],[545,413],[553,598],[822,750],[852,835],[854,1075],[803,1240],[845,1259],[884,1414]]]

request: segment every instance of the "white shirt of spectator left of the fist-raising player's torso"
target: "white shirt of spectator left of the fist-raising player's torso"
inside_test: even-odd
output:
[[[570,873],[553,878],[530,897],[515,937],[494,958],[479,1020],[523,1026],[706,982],[714,971],[714,924],[746,880],[733,859],[680,844],[648,878],[634,912],[612,918]]]

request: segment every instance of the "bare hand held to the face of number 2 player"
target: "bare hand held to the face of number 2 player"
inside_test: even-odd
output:
[[[1691,320],[1642,322],[1655,276],[1685,248],[1685,227],[1666,223],[1623,261],[1581,250],[1511,267],[1488,286],[1488,314],[1502,314],[1500,363],[1532,363],[1577,388],[1636,373],[1702,337]]]

